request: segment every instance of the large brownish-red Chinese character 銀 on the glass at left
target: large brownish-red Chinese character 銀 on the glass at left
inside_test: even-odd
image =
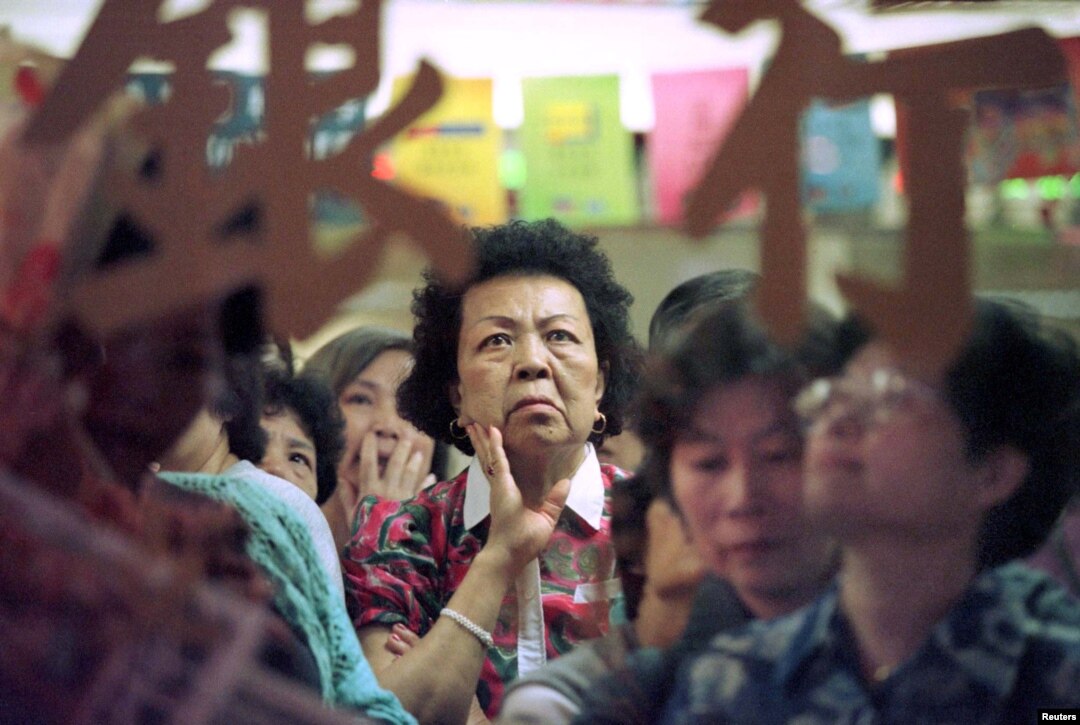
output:
[[[437,204],[370,175],[375,149],[438,99],[438,73],[422,63],[395,107],[337,153],[313,158],[307,148],[311,124],[378,84],[381,3],[364,2],[318,25],[307,22],[305,5],[217,0],[200,13],[160,23],[158,3],[103,3],[24,143],[68,137],[123,85],[136,58],[168,62],[175,71],[168,102],[143,110],[133,124],[154,162],[153,177],[113,171],[106,184],[111,205],[148,230],[156,246],[146,259],[95,274],[76,290],[75,308],[92,328],[113,330],[258,284],[271,328],[306,336],[369,281],[396,232],[417,242],[447,279],[468,272],[461,227]],[[211,170],[206,138],[229,99],[207,70],[207,58],[231,40],[229,15],[241,8],[258,9],[267,18],[266,140],[238,149],[227,169]],[[354,66],[313,81],[305,58],[316,43],[352,45]],[[316,190],[355,200],[369,221],[334,257],[321,256],[311,240]]]

